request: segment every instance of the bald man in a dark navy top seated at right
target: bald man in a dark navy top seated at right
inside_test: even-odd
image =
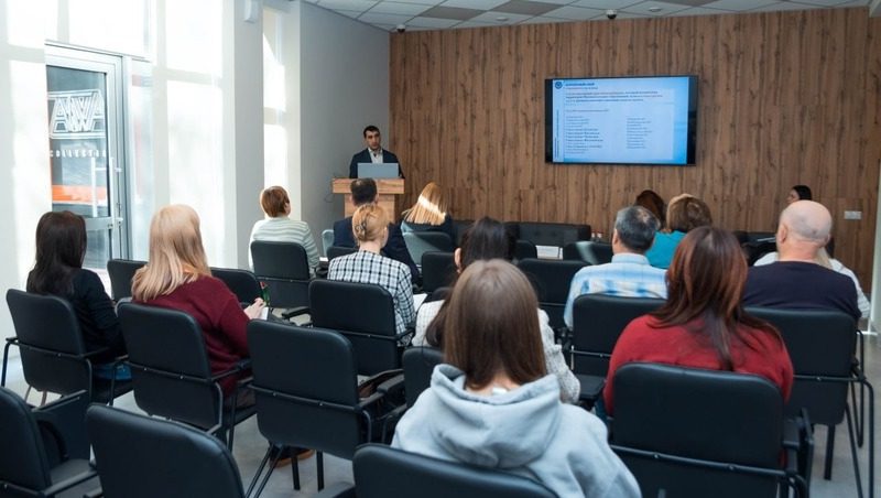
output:
[[[847,277],[817,264],[833,217],[822,204],[797,201],[780,215],[777,262],[750,268],[743,304],[788,310],[838,310],[859,320],[857,291]]]

